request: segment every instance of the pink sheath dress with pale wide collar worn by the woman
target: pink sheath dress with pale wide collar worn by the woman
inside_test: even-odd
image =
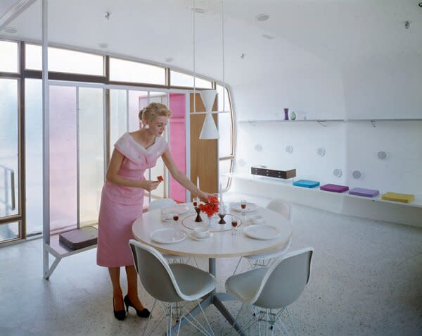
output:
[[[115,143],[115,149],[124,156],[118,174],[128,180],[145,180],[143,173],[155,166],[167,147],[164,138],[156,137],[155,143],[145,149],[132,135],[125,133]],[[120,267],[134,264],[129,239],[133,238],[132,223],[142,215],[144,191],[141,188],[105,183],[98,216],[99,266]]]

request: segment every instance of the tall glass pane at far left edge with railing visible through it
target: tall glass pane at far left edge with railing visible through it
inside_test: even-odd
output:
[[[18,213],[18,80],[0,79],[0,217]]]

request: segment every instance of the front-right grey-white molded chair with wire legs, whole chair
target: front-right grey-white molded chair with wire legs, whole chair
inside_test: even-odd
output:
[[[258,331],[261,335],[261,323],[265,323],[265,335],[268,335],[269,328],[272,329],[272,335],[275,330],[288,335],[286,325],[280,319],[283,311],[286,311],[295,333],[287,306],[300,297],[309,281],[313,252],[312,247],[293,251],[274,260],[268,267],[248,270],[227,279],[227,292],[242,302],[234,323],[241,315],[245,304],[250,304],[259,312],[245,326],[244,332],[258,323]],[[278,322],[281,328],[276,324]]]

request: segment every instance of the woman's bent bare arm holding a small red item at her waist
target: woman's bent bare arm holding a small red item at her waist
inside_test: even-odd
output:
[[[113,150],[113,154],[111,155],[110,163],[108,164],[107,168],[106,179],[108,182],[113,183],[114,185],[122,185],[124,187],[142,188],[148,192],[157,189],[158,185],[160,184],[160,181],[132,181],[119,175],[118,173],[120,170],[120,166],[122,166],[123,158],[124,156],[120,153],[120,151],[117,151],[116,149]]]

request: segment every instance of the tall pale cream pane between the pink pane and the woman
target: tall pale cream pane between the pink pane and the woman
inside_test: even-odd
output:
[[[104,184],[103,89],[79,88],[79,225],[98,223]]]

